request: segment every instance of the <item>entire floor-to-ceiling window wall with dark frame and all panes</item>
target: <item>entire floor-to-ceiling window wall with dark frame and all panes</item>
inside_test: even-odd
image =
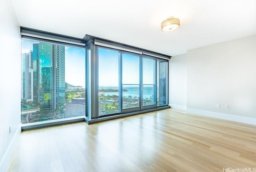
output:
[[[21,33],[23,129],[168,108],[170,56],[90,35]]]

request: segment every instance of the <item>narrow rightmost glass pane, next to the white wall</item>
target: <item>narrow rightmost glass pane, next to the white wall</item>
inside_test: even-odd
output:
[[[158,61],[157,106],[168,104],[168,62]]]

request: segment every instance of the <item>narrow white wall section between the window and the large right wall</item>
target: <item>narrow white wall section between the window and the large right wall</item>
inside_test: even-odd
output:
[[[187,55],[172,57],[169,61],[169,105],[186,110],[187,106]]]

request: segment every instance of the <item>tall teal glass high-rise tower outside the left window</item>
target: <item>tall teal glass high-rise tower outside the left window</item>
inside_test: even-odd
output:
[[[33,44],[33,97],[40,109],[58,109],[65,103],[65,47]]]

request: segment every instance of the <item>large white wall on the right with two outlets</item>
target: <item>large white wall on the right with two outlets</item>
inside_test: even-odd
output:
[[[256,118],[256,35],[189,50],[187,58],[187,108]]]

